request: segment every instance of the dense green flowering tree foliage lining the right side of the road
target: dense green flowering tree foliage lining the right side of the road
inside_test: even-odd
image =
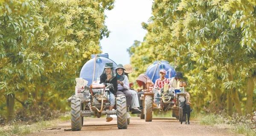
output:
[[[212,107],[216,100],[221,102],[217,104],[219,108],[227,106],[230,115],[234,103],[241,115],[246,107],[241,100],[246,98],[246,109],[251,113],[250,94],[255,88],[252,80],[247,80],[248,92],[244,90],[245,79],[253,78],[256,63],[255,6],[250,0],[155,0],[151,22],[143,25],[148,34],[130,53],[131,63],[137,67],[137,59],[144,54],[156,55],[148,59],[146,66],[156,59],[166,59],[171,64],[177,60],[176,69],[188,77],[198,110]],[[147,46],[155,50],[140,50]]]

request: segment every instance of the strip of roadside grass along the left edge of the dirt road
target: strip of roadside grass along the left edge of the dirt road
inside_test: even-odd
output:
[[[29,133],[40,132],[47,127],[56,127],[57,120],[45,121],[39,118],[36,123],[27,125],[24,122],[13,122],[4,127],[0,127],[0,136],[24,136]]]

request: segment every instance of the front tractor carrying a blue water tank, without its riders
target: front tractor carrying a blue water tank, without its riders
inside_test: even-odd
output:
[[[106,62],[116,63],[108,58],[108,54],[91,55],[76,78],[75,94],[67,99],[71,102],[71,130],[79,131],[82,128],[84,116],[116,115],[118,129],[127,129],[130,122],[127,119],[125,95],[116,96],[116,105],[109,111],[109,89],[112,84],[99,84],[99,77]]]

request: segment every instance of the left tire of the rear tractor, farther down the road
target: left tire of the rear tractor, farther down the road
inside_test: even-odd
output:
[[[145,96],[145,121],[151,122],[153,114],[153,98],[151,95]]]

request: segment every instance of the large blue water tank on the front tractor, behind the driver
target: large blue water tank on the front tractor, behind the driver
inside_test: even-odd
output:
[[[95,73],[94,81],[99,80],[100,75],[104,71],[105,63],[112,62],[114,68],[117,66],[116,63],[108,58],[108,54],[93,54],[91,55],[92,59],[87,61],[80,71],[80,78],[83,78],[88,81],[88,85],[91,85],[93,82],[93,68],[95,56],[97,55],[95,62]]]

